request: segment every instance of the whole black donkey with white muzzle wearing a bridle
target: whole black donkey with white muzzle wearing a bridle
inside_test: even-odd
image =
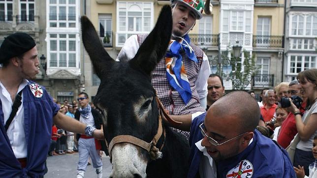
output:
[[[129,61],[115,62],[99,43],[89,19],[83,16],[81,24],[83,44],[101,80],[94,104],[103,117],[105,141],[110,143],[110,178],[185,178],[189,170],[188,141],[162,126],[151,84],[151,73],[171,37],[170,6],[163,6],[155,28]],[[150,153],[131,139],[150,145]]]

